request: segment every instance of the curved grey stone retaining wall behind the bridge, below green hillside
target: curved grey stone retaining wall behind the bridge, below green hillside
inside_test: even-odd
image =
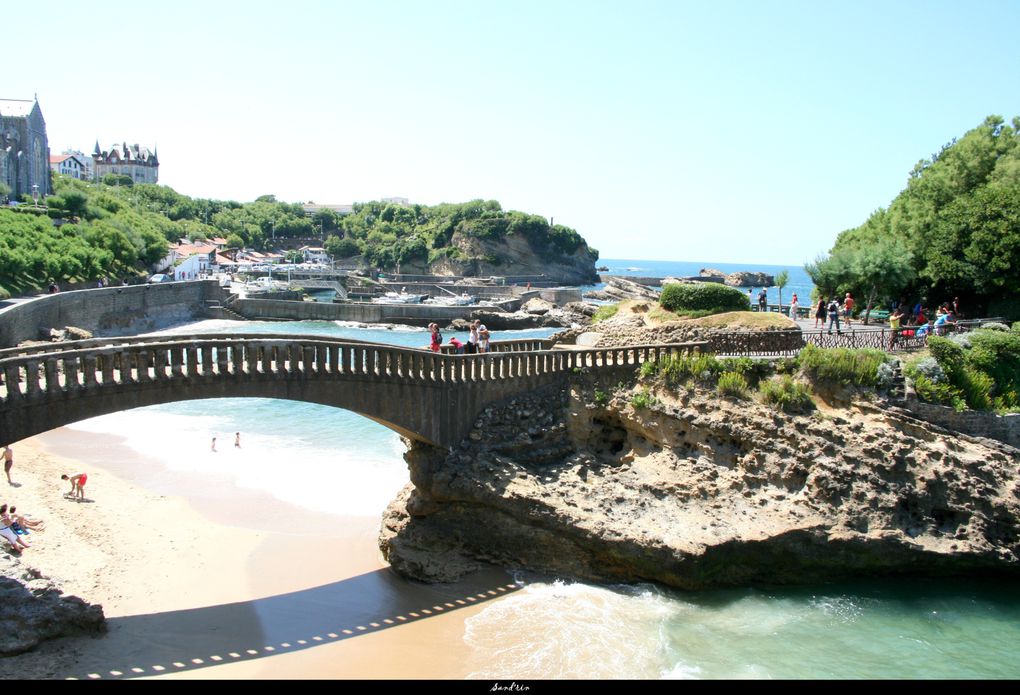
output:
[[[224,298],[214,280],[108,287],[44,295],[0,309],[0,347],[38,340],[65,326],[114,336],[154,331],[205,316]]]

